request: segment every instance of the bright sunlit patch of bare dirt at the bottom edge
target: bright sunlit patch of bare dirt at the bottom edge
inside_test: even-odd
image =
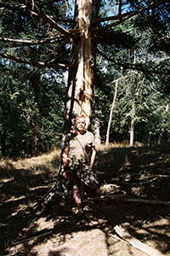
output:
[[[45,246],[37,247],[38,256],[42,255],[60,255],[60,256],[146,256],[147,254],[139,252],[130,247],[126,242],[116,240],[115,238],[105,237],[102,230],[88,230],[72,233],[65,237],[65,241],[56,243],[57,237],[48,241]],[[109,244],[108,244],[109,242]],[[108,248],[109,247],[109,248]]]

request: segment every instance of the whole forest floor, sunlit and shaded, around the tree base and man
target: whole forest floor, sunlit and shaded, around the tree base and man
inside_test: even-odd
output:
[[[169,143],[100,148],[94,169],[101,188],[84,201],[83,225],[58,201],[43,211],[32,210],[54,186],[58,166],[57,151],[1,161],[0,255],[170,255]],[[120,235],[116,227],[128,235]],[[140,241],[157,254],[144,253],[129,241]]]

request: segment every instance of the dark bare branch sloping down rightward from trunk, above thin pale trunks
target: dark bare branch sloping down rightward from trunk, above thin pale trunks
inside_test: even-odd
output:
[[[122,62],[119,62],[119,61],[116,61],[110,57],[108,57],[107,55],[105,55],[101,50],[97,49],[97,53],[99,55],[101,55],[102,57],[104,57],[107,61],[111,61],[113,63],[115,63],[116,65],[118,65],[119,67],[124,67],[126,69],[132,69],[132,70],[138,70],[138,71],[141,71],[141,72],[144,72],[144,73],[156,73],[156,74],[167,74],[167,72],[163,72],[163,71],[158,71],[156,69],[146,69],[144,67],[138,67],[137,65],[133,65],[131,63],[122,63]]]

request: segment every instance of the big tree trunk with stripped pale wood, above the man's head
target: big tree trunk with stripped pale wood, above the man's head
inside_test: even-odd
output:
[[[89,28],[92,18],[98,15],[98,8],[98,0],[77,0],[77,26],[81,36],[77,42],[72,44],[72,59],[75,68],[69,70],[64,134],[74,129],[73,124],[77,115],[85,116],[87,128],[90,124],[96,44]]]

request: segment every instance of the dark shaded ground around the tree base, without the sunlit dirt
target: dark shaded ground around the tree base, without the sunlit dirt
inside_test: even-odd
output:
[[[111,148],[99,151],[95,171],[100,183],[112,183],[111,195],[122,194],[129,198],[170,201],[170,144],[156,147]],[[11,167],[10,167],[11,168]],[[45,166],[44,166],[45,168]],[[128,201],[86,201],[87,223],[78,225],[78,217],[70,207],[59,207],[57,201],[40,212],[32,212],[32,202],[38,201],[54,185],[54,178],[48,175],[32,175],[31,170],[1,170],[0,228],[1,254],[8,255],[9,248],[24,241],[16,255],[37,255],[33,248],[59,236],[65,242],[66,236],[80,230],[100,229],[108,241],[117,224],[129,224],[127,230],[140,241],[155,240],[157,249],[170,253],[169,205],[144,204]],[[4,175],[6,173],[6,177]],[[47,174],[47,172],[46,172]],[[5,179],[6,178],[6,179]],[[103,194],[105,195],[105,193]],[[37,220],[53,225],[38,230]],[[165,221],[167,220],[167,221]],[[143,230],[140,233],[139,230]],[[32,241],[32,237],[35,239]],[[31,239],[31,242],[30,240]],[[11,251],[10,251],[11,252]],[[50,250],[48,255],[63,255],[63,251]]]

